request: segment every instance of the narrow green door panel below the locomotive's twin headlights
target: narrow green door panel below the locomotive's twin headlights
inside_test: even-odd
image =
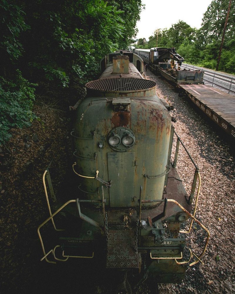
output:
[[[132,206],[134,196],[135,152],[108,152],[110,206]]]

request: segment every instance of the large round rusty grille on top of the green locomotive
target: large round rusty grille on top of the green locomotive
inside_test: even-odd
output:
[[[116,96],[110,95],[110,93],[117,93],[117,95],[132,93],[131,96],[152,96],[155,95],[155,86],[156,83],[154,81],[142,78],[107,78],[86,83],[88,92],[90,90],[93,95],[100,93],[99,96]],[[134,92],[137,92],[137,95],[134,95]]]

